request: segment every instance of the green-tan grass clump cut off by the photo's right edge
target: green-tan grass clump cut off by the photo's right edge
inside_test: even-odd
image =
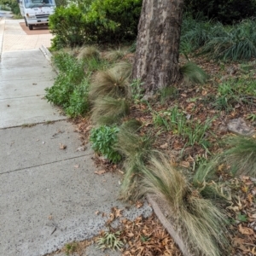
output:
[[[256,140],[253,137],[229,137],[224,140],[224,161],[236,174],[256,177]]]

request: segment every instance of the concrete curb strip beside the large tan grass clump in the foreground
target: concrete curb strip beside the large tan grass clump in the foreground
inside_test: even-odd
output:
[[[189,253],[189,249],[187,245],[184,243],[183,238],[179,236],[179,232],[174,229],[174,226],[172,222],[166,218],[163,209],[160,207],[160,204],[154,196],[147,195],[148,203],[151,205],[151,207],[154,210],[155,215],[159,218],[160,223],[165,227],[167,232],[172,236],[173,240],[177,243],[177,246],[180,248],[180,250],[183,253],[183,256],[195,256],[191,253]]]

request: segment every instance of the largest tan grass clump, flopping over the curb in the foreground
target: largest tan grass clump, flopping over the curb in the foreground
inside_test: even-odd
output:
[[[143,174],[143,193],[153,193],[166,201],[170,213],[186,234],[189,247],[193,247],[197,255],[226,253],[224,214],[211,201],[203,199],[163,155],[152,157],[149,165],[143,168]]]

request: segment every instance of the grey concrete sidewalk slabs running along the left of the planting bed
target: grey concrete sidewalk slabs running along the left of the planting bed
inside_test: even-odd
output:
[[[11,31],[17,36],[19,30],[5,26],[3,31],[4,43]],[[44,54],[34,49],[37,38],[27,37],[33,41],[31,49],[11,51],[23,47],[22,40],[11,41],[0,62],[0,255],[4,256],[44,255],[67,242],[96,236],[106,221],[96,211],[126,207],[117,200],[121,177],[96,175],[90,145],[79,151],[75,126],[44,100],[44,88],[54,84],[55,72]],[[67,148],[60,149],[61,143]],[[133,219],[151,212],[145,204],[130,207],[124,215]],[[90,247],[84,255],[105,253]]]

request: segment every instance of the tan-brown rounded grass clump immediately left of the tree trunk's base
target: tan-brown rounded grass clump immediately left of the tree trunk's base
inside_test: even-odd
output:
[[[93,101],[104,96],[113,98],[129,98],[131,96],[129,82],[123,73],[119,72],[119,68],[96,73],[90,86],[90,100]]]

